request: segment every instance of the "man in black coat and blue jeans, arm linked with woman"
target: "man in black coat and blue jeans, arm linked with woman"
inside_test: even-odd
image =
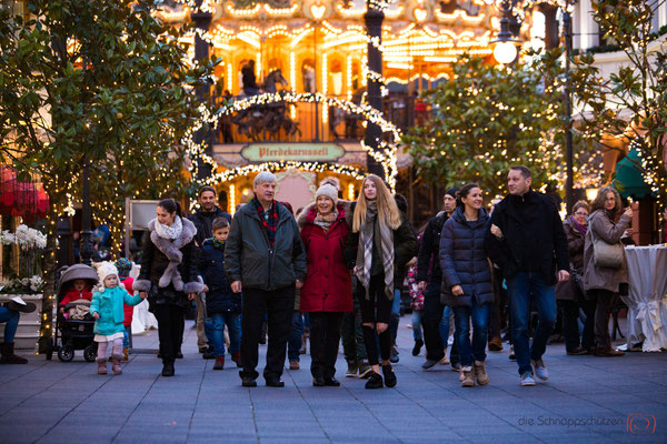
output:
[[[487,233],[489,258],[502,269],[507,282],[521,385],[535,385],[534,374],[542,381],[549,377],[542,355],[556,322],[554,285],[569,279],[563,221],[551,198],[532,191],[531,183],[528,168],[510,168],[509,195],[496,205]],[[538,313],[532,346],[528,337],[531,300]]]

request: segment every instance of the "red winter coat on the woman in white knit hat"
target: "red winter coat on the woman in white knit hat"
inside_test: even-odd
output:
[[[337,210],[338,219],[328,232],[313,223],[316,208],[310,209],[301,229],[308,259],[308,274],[299,306],[302,313],[352,311],[352,279],[342,256],[349,229],[345,210],[340,205]]]

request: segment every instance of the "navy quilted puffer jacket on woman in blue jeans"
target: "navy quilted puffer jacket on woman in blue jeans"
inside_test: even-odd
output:
[[[477,221],[469,222],[461,208],[445,222],[440,236],[440,268],[442,269],[442,302],[449,306],[472,306],[494,302],[491,269],[485,248],[490,220],[481,209]],[[461,285],[464,294],[455,296],[451,287]]]

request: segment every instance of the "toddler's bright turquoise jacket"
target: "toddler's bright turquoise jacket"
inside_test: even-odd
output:
[[[103,335],[125,332],[122,304],[137,305],[140,302],[141,297],[130,296],[123,285],[104,289],[103,292],[94,292],[90,303],[90,314],[99,313],[100,319],[94,321],[93,332]]]

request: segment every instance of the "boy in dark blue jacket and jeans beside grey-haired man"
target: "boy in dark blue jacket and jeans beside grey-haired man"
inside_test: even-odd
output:
[[[241,294],[233,293],[225,273],[225,243],[229,235],[229,221],[216,218],[213,236],[203,241],[200,273],[206,285],[207,326],[213,342],[216,363],[213,370],[225,367],[225,325],[229,332],[229,353],[237,366],[241,366]]]

